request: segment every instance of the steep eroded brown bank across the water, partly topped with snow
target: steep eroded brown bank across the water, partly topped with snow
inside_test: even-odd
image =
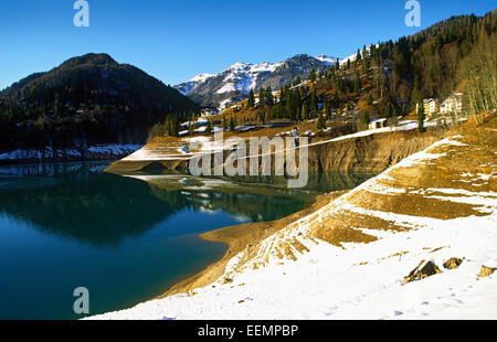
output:
[[[309,172],[382,172],[405,157],[429,147],[442,135],[437,130],[420,133],[415,128],[415,124],[410,124],[404,127],[362,131],[335,139],[311,138],[308,146]],[[241,135],[241,137],[248,140],[250,133]],[[182,153],[181,147],[188,147],[192,140],[203,143],[201,150],[192,151],[191,154]],[[157,168],[187,170],[192,157],[219,148],[213,143],[212,137],[168,138],[165,141],[145,146],[139,151],[113,163],[107,171],[125,173]],[[231,151],[231,148],[226,149]]]

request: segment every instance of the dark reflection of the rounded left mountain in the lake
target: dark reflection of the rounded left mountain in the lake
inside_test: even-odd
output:
[[[139,235],[179,209],[151,196],[147,184],[102,173],[2,192],[0,210],[36,228],[106,245]]]

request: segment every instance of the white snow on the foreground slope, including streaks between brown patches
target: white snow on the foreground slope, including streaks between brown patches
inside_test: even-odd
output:
[[[433,165],[446,154],[441,151],[465,146],[459,139],[444,139],[406,158],[271,235],[257,244],[255,256],[240,253],[212,285],[91,319],[497,319],[497,274],[477,276],[483,265],[497,267],[497,193],[457,185],[472,177],[478,178],[478,186],[488,184],[496,181],[495,173],[455,173],[453,189],[413,189],[424,199],[475,204],[482,215],[440,220],[371,210],[357,202],[362,194],[402,195],[406,189],[389,185],[399,174]],[[311,236],[316,223],[342,212],[406,229],[357,226],[378,239],[342,247]],[[278,257],[278,244],[295,239],[306,248],[293,248],[296,258]],[[463,263],[444,268],[452,257]],[[442,272],[402,285],[422,260],[433,260]]]

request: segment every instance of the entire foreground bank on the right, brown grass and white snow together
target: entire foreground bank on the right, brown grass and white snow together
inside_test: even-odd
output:
[[[247,245],[212,285],[96,318],[495,319],[496,131],[495,115],[454,129]]]

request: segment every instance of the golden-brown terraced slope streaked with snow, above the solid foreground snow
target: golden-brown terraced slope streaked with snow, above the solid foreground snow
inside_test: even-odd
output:
[[[450,220],[491,214],[478,199],[497,192],[497,118],[473,120],[420,156],[410,157],[317,212],[243,250],[232,271],[258,268],[269,259],[297,259],[309,242],[370,243],[373,231],[416,227],[415,217]],[[392,218],[396,217],[396,218]]]

